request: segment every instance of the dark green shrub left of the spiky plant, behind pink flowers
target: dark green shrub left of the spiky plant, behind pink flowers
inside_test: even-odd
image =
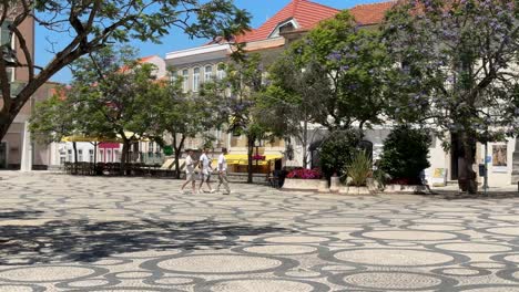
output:
[[[319,152],[320,168],[326,178],[344,175],[344,167],[352,159],[360,142],[357,131],[337,131],[323,142]]]

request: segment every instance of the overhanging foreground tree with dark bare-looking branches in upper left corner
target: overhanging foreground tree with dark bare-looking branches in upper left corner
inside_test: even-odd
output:
[[[250,20],[248,13],[236,9],[231,0],[9,0],[0,1],[0,27],[8,28],[22,52],[18,59],[0,59],[0,139],[33,93],[83,55],[112,42],[159,42],[171,28],[181,28],[191,36],[230,39],[247,29]],[[20,29],[32,20],[62,43],[52,45],[54,58],[42,66],[35,64],[30,40]],[[4,50],[9,51],[10,45]],[[28,81],[19,92],[11,92],[8,66],[28,72]]]

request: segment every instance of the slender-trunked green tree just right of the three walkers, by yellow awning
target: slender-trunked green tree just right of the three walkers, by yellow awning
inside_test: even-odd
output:
[[[271,84],[260,95],[258,121],[277,137],[295,137],[303,148],[303,167],[308,165],[307,148],[329,92],[329,80],[319,64],[301,66],[291,54],[283,55],[268,71]]]

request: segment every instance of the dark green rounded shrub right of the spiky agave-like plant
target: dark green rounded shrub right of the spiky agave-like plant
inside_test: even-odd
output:
[[[393,180],[419,184],[420,171],[428,168],[431,138],[427,131],[397,126],[384,142],[379,168]]]

